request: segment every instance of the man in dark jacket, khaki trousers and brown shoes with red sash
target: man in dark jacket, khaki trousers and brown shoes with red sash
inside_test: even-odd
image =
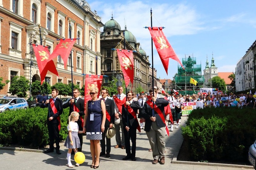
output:
[[[164,98],[157,98],[156,89],[154,91],[152,89],[149,90],[149,95],[151,99],[146,101],[140,114],[146,120],[145,131],[149,138],[154,158],[152,164],[157,164],[157,162],[165,164],[165,119],[169,120],[169,115],[165,116],[164,107],[168,106],[169,101]]]

